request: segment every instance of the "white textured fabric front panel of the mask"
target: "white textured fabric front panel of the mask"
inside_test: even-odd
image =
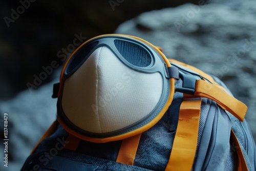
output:
[[[162,88],[159,73],[132,70],[101,47],[65,81],[62,108],[81,129],[108,133],[146,117],[159,102]]]

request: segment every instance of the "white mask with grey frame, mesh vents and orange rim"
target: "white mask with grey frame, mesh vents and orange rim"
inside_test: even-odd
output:
[[[108,142],[150,129],[173,99],[167,58],[153,45],[103,35],[81,45],[62,69],[58,121],[69,133]]]

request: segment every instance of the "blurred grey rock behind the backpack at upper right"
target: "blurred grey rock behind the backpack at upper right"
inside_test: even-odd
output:
[[[256,3],[185,4],[145,12],[116,33],[141,37],[174,58],[219,77],[248,106],[256,140]]]

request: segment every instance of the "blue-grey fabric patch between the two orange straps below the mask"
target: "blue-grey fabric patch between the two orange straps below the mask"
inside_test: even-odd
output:
[[[134,165],[164,170],[168,162],[175,133],[168,133],[167,114],[150,130],[141,134]]]

